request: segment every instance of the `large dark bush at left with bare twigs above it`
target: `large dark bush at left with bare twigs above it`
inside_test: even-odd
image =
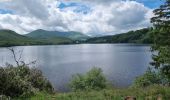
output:
[[[0,67],[0,95],[24,97],[36,91],[53,91],[52,85],[40,70],[27,66]]]

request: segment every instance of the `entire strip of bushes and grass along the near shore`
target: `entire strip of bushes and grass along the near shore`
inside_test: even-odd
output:
[[[54,92],[41,71],[24,66],[0,69],[0,94],[14,100],[123,100],[127,96],[137,100],[169,100],[170,87],[151,69],[138,77],[129,88],[114,88],[108,84],[100,68],[86,74],[76,74],[70,82],[72,92]]]

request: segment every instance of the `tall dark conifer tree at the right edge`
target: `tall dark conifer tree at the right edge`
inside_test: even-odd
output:
[[[165,0],[165,3],[153,12],[155,16],[151,18],[154,25],[152,50],[157,54],[153,55],[152,65],[170,80],[170,0]]]

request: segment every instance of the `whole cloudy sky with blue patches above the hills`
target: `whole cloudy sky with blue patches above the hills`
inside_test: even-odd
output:
[[[0,0],[0,29],[108,35],[151,26],[160,0]]]

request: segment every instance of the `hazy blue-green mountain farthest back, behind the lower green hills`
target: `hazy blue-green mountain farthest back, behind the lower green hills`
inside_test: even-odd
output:
[[[80,32],[59,32],[59,31],[46,31],[46,30],[35,30],[31,33],[26,34],[25,36],[32,37],[32,38],[39,38],[39,39],[50,39],[54,37],[63,37],[69,38],[72,40],[86,40],[89,36],[82,34]]]

